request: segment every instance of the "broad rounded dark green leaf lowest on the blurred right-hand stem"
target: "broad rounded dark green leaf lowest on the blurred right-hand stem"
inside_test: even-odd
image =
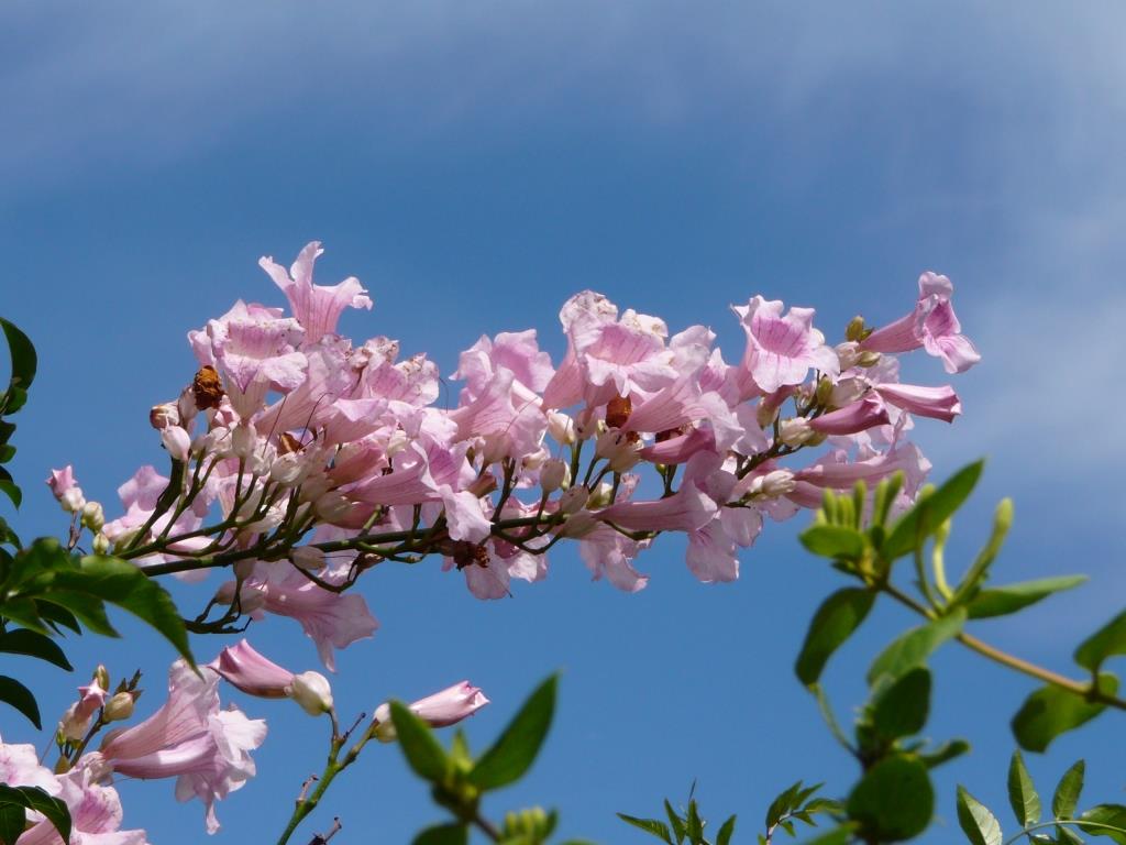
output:
[[[935,790],[921,760],[895,755],[865,773],[847,808],[849,818],[860,825],[860,838],[903,842],[927,829],[935,811]]]

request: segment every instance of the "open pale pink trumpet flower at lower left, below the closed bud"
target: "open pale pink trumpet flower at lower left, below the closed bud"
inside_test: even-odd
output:
[[[247,719],[233,705],[220,710],[218,678],[212,669],[203,667],[197,675],[177,660],[160,710],[140,724],[110,731],[97,755],[83,757],[84,765],[99,779],[109,772],[176,777],[177,799],[199,798],[207,809],[207,831],[215,833],[215,801],[254,775],[250,751],[266,739],[261,719]]]

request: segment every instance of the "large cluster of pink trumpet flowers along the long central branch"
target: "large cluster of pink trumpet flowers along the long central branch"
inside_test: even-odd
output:
[[[188,333],[198,370],[151,412],[168,469],[142,466],[118,490],[124,514],[91,532],[153,576],[231,572],[203,628],[288,616],[330,669],[377,626],[349,590],[381,563],[437,554],[500,598],[542,580],[571,540],[596,579],[636,592],[643,552],[677,532],[700,581],[731,581],[767,517],[824,490],[902,472],[904,507],[930,469],[908,439],[914,418],[949,422],[962,406],[949,385],[901,383],[895,355],[921,348],[949,373],[980,358],[933,273],[902,318],[857,318],[835,345],[812,309],[754,296],[732,309],[745,343],[730,362],[704,326],[670,333],[583,291],[560,312],[561,361],[534,329],[482,337],[446,408],[426,355],[338,332],[372,300],[355,278],[315,284],[321,251],[310,243],[288,272],[261,260],[288,313],[239,301]],[[70,468],[50,483],[81,507]]]

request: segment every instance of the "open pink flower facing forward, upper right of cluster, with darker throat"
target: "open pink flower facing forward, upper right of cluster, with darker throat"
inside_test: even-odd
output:
[[[792,308],[785,317],[781,300],[753,297],[747,305],[733,305],[747,333],[742,370],[763,393],[805,381],[811,367],[837,375],[837,353],[825,346],[813,328],[812,308]]]

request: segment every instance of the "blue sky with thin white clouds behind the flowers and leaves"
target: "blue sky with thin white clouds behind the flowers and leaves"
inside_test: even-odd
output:
[[[990,457],[955,551],[972,553],[1011,493],[998,577],[1092,575],[981,633],[1066,670],[1126,589],[1107,531],[1126,515],[1124,18],[1109,2],[8,2],[0,302],[41,352],[14,464],[21,533],[63,530],[39,484],[48,468],[74,463],[111,501],[160,460],[148,409],[190,376],[185,332],[238,297],[279,304],[257,258],[288,261],[307,240],[328,249],[320,278],[355,274],[375,300],[347,331],[399,337],[447,374],[500,330],[538,328],[557,359],[558,306],[584,287],[674,329],[712,324],[734,357],[730,303],[813,305],[835,332],[856,312],[900,315],[935,269],[985,356],[958,382],[965,417],[920,425],[938,475]],[[643,842],[614,811],[655,811],[695,779],[750,840],[789,782],[842,792],[854,776],[790,669],[837,584],[796,544],[802,524],[774,526],[729,586],[695,582],[676,542],[643,559],[636,596],[590,584],[570,552],[546,582],[489,604],[437,563],[379,571],[366,595],[383,629],[343,655],[338,702],[369,711],[470,677],[494,702],[470,726],[480,746],[562,669],[545,755],[492,809],[553,803],[569,834]],[[190,608],[204,593],[179,595]],[[832,667],[843,717],[867,660],[908,624],[885,608]],[[253,633],[314,666],[284,620]],[[73,656],[115,675],[140,665],[144,703],[160,697],[163,647],[90,638]],[[953,647],[935,665],[930,732],[974,744],[942,771],[939,843],[956,838],[955,782],[1003,808],[1007,723],[1033,685]],[[35,678],[45,701],[70,700],[74,678]],[[259,779],[221,806],[216,843],[268,840],[320,765],[324,726],[240,704],[271,735]],[[30,736],[17,719],[0,715],[6,739]],[[1121,800],[1120,751],[1111,715],[1031,766],[1048,789],[1085,755],[1092,798]],[[153,842],[203,838],[198,806],[173,806],[170,784],[123,795]],[[439,816],[386,748],[315,820],[333,813],[338,840],[386,843]]]

